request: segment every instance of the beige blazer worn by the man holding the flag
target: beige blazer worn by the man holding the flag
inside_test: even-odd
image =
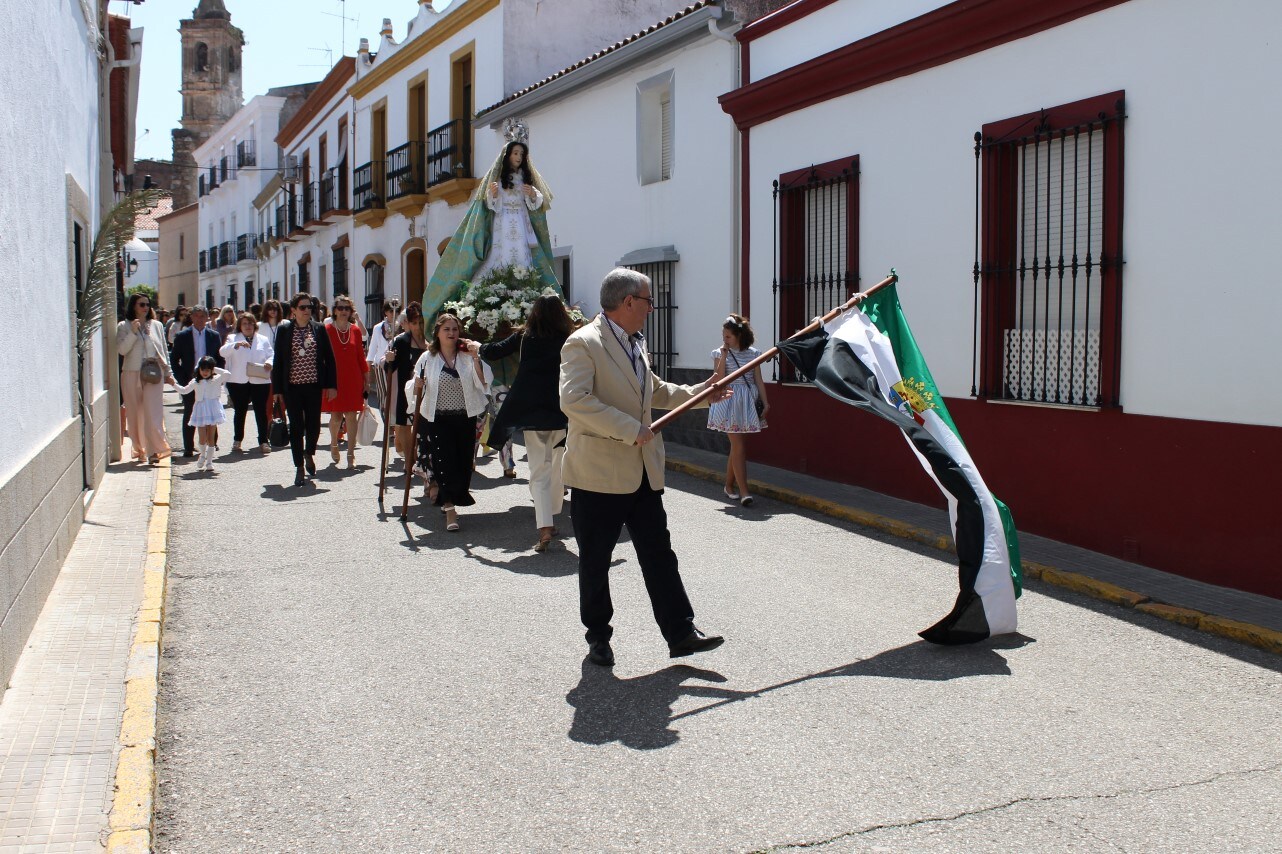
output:
[[[637,445],[637,432],[653,421],[651,406],[670,409],[706,383],[664,382],[650,372],[650,356],[644,349],[641,359],[645,383],[637,381],[604,315],[576,331],[562,347],[560,408],[569,418],[562,467],[567,486],[624,495],[641,487],[645,472],[651,489],[663,489],[663,439],[655,436]]]

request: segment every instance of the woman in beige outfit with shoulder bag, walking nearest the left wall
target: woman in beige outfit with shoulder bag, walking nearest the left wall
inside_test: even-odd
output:
[[[172,376],[169,349],[165,346],[164,330],[151,309],[151,299],[146,294],[135,294],[129,297],[124,318],[115,327],[115,347],[124,359],[121,368],[121,392],[124,396],[133,459],[144,462],[150,458],[153,463],[158,463],[172,453],[169,441],[164,436],[164,386],[162,382],[142,381],[142,363],[149,359],[156,360],[160,367],[160,380],[167,380]]]

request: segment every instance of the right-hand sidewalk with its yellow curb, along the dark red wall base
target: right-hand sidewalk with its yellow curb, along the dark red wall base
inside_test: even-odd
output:
[[[724,477],[726,458],[720,454],[676,442],[664,448],[669,468],[718,482]],[[749,480],[760,495],[951,549],[942,509],[759,463],[749,464]],[[1018,519],[1019,508],[1014,512]],[[1282,600],[1183,578],[1023,531],[1019,549],[1027,576],[1282,653]]]

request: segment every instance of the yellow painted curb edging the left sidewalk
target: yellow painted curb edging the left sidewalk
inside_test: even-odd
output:
[[[108,819],[110,854],[151,850],[155,819],[156,695],[160,680],[160,642],[164,631],[165,562],[169,550],[169,498],[172,469],[164,459],[156,467],[147,523],[147,554],[142,565],[142,601],[129,648],[121,719],[115,795]]]

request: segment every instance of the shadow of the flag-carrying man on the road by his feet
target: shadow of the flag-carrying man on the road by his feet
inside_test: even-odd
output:
[[[613,669],[583,659],[582,677],[565,695],[565,701],[574,707],[570,740],[595,745],[617,741],[633,750],[670,748],[681,740],[672,722],[682,716],[672,714],[672,704],[682,696],[718,698],[728,703],[751,695],[710,685],[686,685],[687,680],[724,682],[726,677],[715,671],[676,664],[620,680]]]

